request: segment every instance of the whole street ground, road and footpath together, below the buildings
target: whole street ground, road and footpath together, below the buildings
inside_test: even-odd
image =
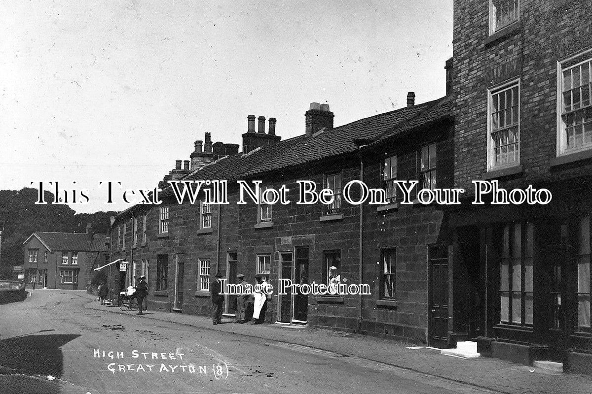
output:
[[[175,312],[137,316],[83,291],[31,295],[0,305],[0,393],[592,393],[590,376],[381,338],[230,319],[212,325]],[[182,362],[171,358],[178,353]]]

